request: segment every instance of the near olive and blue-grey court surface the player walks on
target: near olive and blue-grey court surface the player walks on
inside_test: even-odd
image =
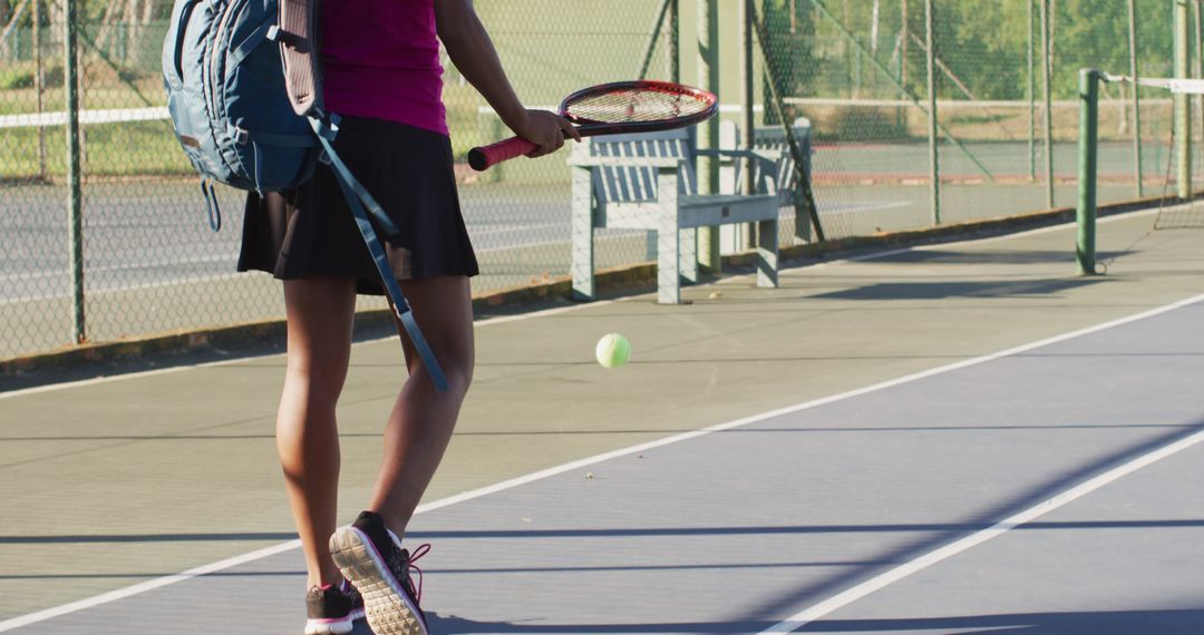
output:
[[[1058,226],[480,316],[432,630],[1202,633],[1204,232],[1152,224],[1087,278]],[[399,356],[354,352],[347,520]],[[0,630],[300,633],[282,363],[0,393]]]

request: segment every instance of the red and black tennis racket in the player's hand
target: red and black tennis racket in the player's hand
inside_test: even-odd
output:
[[[560,103],[560,115],[583,137],[685,127],[706,121],[719,108],[714,94],[671,82],[615,82],[578,90]],[[538,148],[510,137],[468,152],[468,165],[484,171]]]

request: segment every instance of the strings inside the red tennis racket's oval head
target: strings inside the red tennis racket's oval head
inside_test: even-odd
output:
[[[565,115],[578,121],[625,124],[695,117],[710,107],[710,101],[687,93],[624,89],[583,95],[566,105]]]

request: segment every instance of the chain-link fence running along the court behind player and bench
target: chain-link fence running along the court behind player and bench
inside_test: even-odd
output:
[[[0,360],[281,319],[278,285],[234,272],[242,194],[219,190],[225,225],[211,231],[172,135],[159,71],[166,0],[78,0],[75,7],[81,180],[72,202],[65,1],[0,0]],[[531,106],[551,108],[578,88],[641,76],[706,84],[700,57],[709,53],[718,85],[704,88],[720,94],[721,117],[738,126],[740,60],[751,53],[755,125],[789,120],[808,129],[819,227],[796,226],[804,210],[784,209],[781,247],[813,241],[818,231],[843,238],[1073,204],[1078,70],[1129,72],[1131,19],[1119,0],[755,0],[749,49],[740,44],[738,0],[716,0],[718,44],[700,51],[708,19],[702,1],[476,6]],[[1171,12],[1165,2],[1139,5],[1138,71],[1168,76]],[[508,131],[452,64],[444,66],[448,123],[462,161],[471,147]],[[1159,194],[1171,154],[1170,101],[1139,95],[1139,152],[1133,95],[1110,90],[1102,108],[1100,202],[1134,198],[1143,184],[1145,194]],[[720,137],[716,143],[739,140]],[[458,164],[483,271],[476,293],[568,274],[566,155],[483,173]],[[721,243],[727,253],[749,244],[739,236]],[[595,257],[597,268],[647,262],[654,243],[641,231],[600,230]],[[362,298],[361,307],[379,308],[383,299]]]

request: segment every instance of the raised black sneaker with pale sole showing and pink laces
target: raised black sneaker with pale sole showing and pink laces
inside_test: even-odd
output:
[[[427,635],[426,616],[418,607],[423,571],[414,560],[430,550],[430,545],[423,545],[411,556],[380,515],[371,511],[330,536],[330,554],[343,576],[364,594],[368,625],[376,635]],[[411,569],[418,574],[417,589]]]

